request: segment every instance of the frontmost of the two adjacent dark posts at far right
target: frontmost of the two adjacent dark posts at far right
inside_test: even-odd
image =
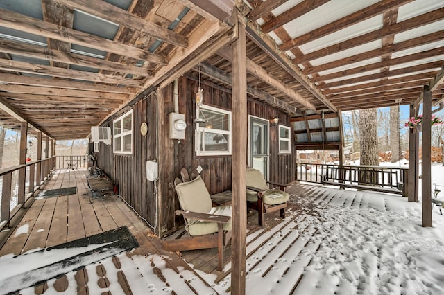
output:
[[[422,95],[422,226],[432,224],[432,91],[424,86]]]

